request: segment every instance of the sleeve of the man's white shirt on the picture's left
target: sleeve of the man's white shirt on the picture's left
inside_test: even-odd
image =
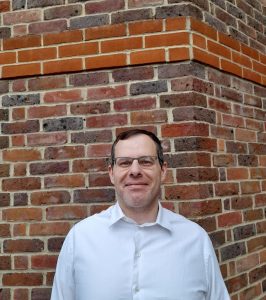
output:
[[[73,230],[67,235],[58,257],[51,300],[75,300]]]

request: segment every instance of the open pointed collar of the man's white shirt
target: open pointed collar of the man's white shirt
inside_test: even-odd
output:
[[[138,225],[138,226],[152,226],[152,225],[159,225],[165,229],[167,229],[168,231],[172,231],[172,224],[169,220],[169,218],[167,218],[167,212],[166,209],[162,207],[161,203],[158,202],[159,205],[159,211],[158,211],[158,215],[157,215],[157,219],[154,223],[145,223],[143,225]],[[116,224],[117,222],[119,222],[120,220],[123,220],[125,222],[128,223],[132,223],[132,224],[136,224],[137,223],[128,218],[122,211],[118,201],[115,203],[115,205],[112,207],[111,210],[111,216],[110,216],[110,227],[114,224]]]

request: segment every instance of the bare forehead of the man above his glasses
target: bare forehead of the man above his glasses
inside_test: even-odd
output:
[[[155,142],[145,134],[134,135],[126,140],[120,140],[115,146],[115,156],[156,155]]]

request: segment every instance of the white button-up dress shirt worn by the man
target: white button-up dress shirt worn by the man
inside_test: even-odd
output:
[[[230,300],[207,233],[159,204],[138,225],[118,203],[76,224],[51,300]]]

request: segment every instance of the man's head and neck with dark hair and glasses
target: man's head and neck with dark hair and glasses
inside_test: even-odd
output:
[[[160,186],[166,176],[162,146],[151,132],[121,133],[112,147],[109,175],[124,213],[132,217],[157,211]]]

